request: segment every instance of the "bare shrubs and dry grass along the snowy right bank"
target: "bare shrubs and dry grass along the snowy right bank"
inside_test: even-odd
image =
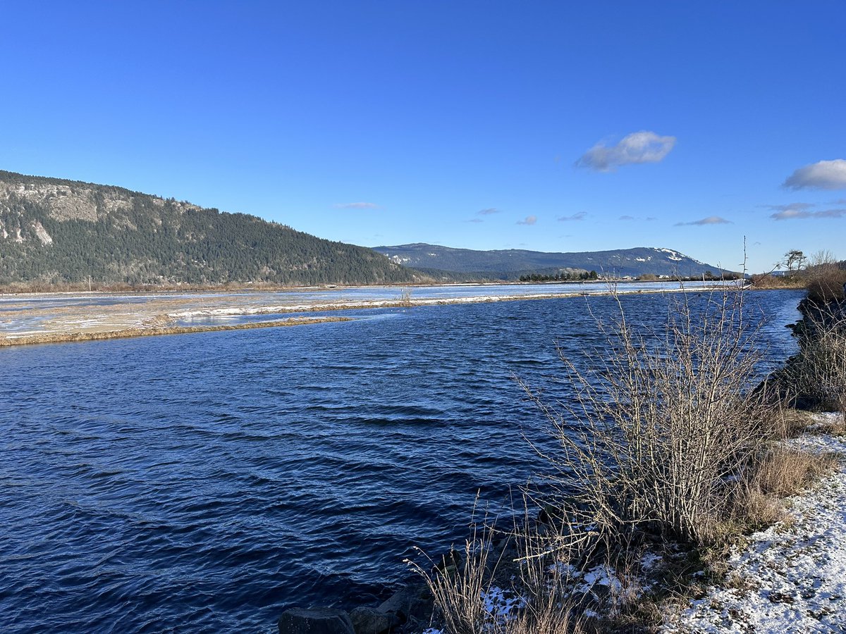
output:
[[[610,353],[562,355],[572,402],[521,381],[558,449],[538,448],[549,468],[523,491],[521,519],[481,517],[463,548],[413,564],[434,598],[427,632],[756,631],[772,618],[785,631],[835,631],[846,520],[827,500],[846,496],[846,481],[827,476],[843,443],[826,439],[846,433],[843,269],[799,271],[809,287],[799,353],[763,382],[744,292],[713,294],[704,310],[682,300],[658,332],[621,308],[616,323],[597,324]],[[792,520],[786,496],[820,478],[825,492],[790,502],[804,513]],[[838,522],[823,528],[809,509]],[[793,537],[773,537],[783,533]],[[816,548],[820,538],[840,550]],[[781,550],[767,551],[773,543]],[[757,550],[744,555],[746,544]],[[788,587],[823,555],[835,578]],[[784,571],[763,575],[773,557]]]

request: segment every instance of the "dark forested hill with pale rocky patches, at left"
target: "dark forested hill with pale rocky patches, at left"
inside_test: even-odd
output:
[[[256,216],[0,171],[0,284],[414,281],[382,254]]]

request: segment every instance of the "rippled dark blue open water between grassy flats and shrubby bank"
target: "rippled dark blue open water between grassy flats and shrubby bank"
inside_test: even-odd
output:
[[[799,292],[758,292],[766,368]],[[587,302],[590,303],[587,303]],[[660,325],[668,298],[622,298]],[[565,399],[562,298],[354,321],[0,349],[0,631],[274,631],[285,607],[376,601],[412,546],[464,538],[549,443],[516,374]]]

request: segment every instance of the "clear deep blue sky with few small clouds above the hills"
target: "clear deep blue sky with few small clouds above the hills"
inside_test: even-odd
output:
[[[376,246],[846,258],[846,3],[4,3],[0,169]]]

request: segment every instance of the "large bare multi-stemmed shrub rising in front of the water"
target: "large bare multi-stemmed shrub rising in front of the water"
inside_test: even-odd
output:
[[[560,441],[547,458],[562,533],[594,549],[635,528],[706,544],[772,435],[767,391],[750,391],[760,355],[743,295],[711,295],[695,312],[685,296],[657,333],[635,330],[618,305],[616,324],[597,322],[610,353],[561,355],[573,403],[524,385]]]

